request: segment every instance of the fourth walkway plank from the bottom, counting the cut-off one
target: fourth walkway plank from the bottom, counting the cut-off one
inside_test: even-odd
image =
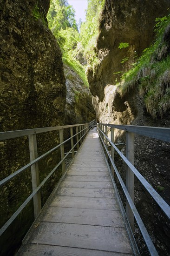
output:
[[[118,202],[115,198],[96,198],[81,196],[57,196],[53,199],[51,206],[85,208],[85,209],[103,209],[119,210]]]

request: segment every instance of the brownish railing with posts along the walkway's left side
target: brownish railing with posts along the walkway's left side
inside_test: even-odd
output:
[[[73,135],[73,127],[76,128],[76,134]],[[18,130],[18,131],[9,131],[9,132],[0,132],[0,141],[18,138],[22,136],[28,136],[29,138],[29,152],[30,152],[30,163],[26,164],[24,167],[15,171],[13,174],[7,176],[3,180],[0,181],[0,187],[4,186],[7,182],[11,181],[14,177],[24,172],[27,168],[31,167],[31,176],[32,176],[32,188],[33,192],[25,202],[15,211],[13,216],[9,218],[9,220],[1,227],[0,236],[4,233],[4,231],[9,227],[9,225],[13,222],[13,220],[20,214],[22,209],[27,205],[27,203],[33,198],[33,206],[34,206],[34,217],[36,218],[39,215],[41,210],[41,196],[40,196],[40,188],[45,184],[45,182],[51,177],[51,175],[56,171],[59,165],[62,165],[62,175],[65,173],[65,158],[67,155],[72,153],[72,157],[74,156],[74,148],[77,146],[77,149],[84,141],[85,136],[89,132],[91,128],[94,127],[94,121],[85,124],[76,124],[76,125],[65,125],[65,126],[56,126],[56,127],[47,127],[47,128],[36,128],[36,129],[27,129],[27,130]],[[66,128],[70,128],[70,137],[64,141],[63,139],[63,131]],[[37,134],[56,131],[59,130],[59,145],[50,149],[45,154],[38,157],[37,154]],[[76,138],[76,143],[74,144],[74,137]],[[71,149],[69,152],[65,154],[64,144],[71,140]],[[52,171],[46,176],[46,178],[39,184],[39,166],[38,162],[52,153],[57,148],[60,148],[61,161],[52,169]]]

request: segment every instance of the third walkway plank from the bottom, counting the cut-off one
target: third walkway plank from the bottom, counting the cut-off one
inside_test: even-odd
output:
[[[46,215],[43,217],[45,222],[63,222],[74,224],[88,224],[99,226],[124,228],[123,217],[120,211],[114,210],[96,210],[65,207],[49,207]]]

